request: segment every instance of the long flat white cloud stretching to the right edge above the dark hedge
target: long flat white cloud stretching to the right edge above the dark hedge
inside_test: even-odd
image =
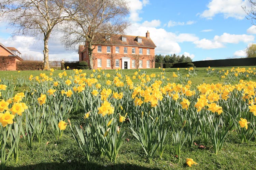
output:
[[[220,43],[234,43],[238,44],[239,42],[249,43],[254,40],[253,35],[236,35],[236,34],[228,34],[223,33],[221,36],[215,35],[214,40]]]

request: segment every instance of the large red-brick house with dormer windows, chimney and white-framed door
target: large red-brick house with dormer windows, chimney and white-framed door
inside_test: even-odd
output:
[[[130,35],[104,36],[102,42],[93,50],[94,69],[136,69],[155,68],[156,45],[147,31],[145,37]],[[79,46],[79,61],[86,61],[89,56],[86,45]]]

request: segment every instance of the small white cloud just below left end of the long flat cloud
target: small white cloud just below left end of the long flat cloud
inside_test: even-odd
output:
[[[195,41],[194,44],[196,44],[197,48],[202,48],[202,49],[216,49],[216,48],[224,47],[223,44],[217,41],[211,41],[205,38]]]

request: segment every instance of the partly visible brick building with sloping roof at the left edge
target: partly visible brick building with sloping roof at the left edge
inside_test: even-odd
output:
[[[21,53],[14,47],[0,43],[0,70],[16,70],[16,62],[23,61]]]

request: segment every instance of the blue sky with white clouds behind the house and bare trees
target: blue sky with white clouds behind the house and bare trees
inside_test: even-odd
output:
[[[155,54],[189,56],[193,61],[246,57],[255,43],[256,26],[245,16],[247,0],[127,0],[130,26],[127,35],[145,36],[155,45]],[[43,41],[12,36],[13,30],[0,21],[0,43],[15,47],[22,58],[43,60]],[[49,60],[79,61],[77,51],[66,50],[59,36],[49,41]]]

